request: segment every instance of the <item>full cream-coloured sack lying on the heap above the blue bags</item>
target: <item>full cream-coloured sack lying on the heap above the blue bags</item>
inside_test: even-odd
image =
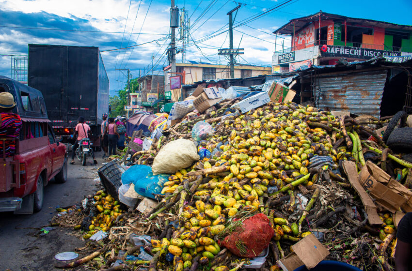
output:
[[[196,145],[188,139],[177,139],[163,146],[153,161],[153,175],[172,174],[200,159]]]

